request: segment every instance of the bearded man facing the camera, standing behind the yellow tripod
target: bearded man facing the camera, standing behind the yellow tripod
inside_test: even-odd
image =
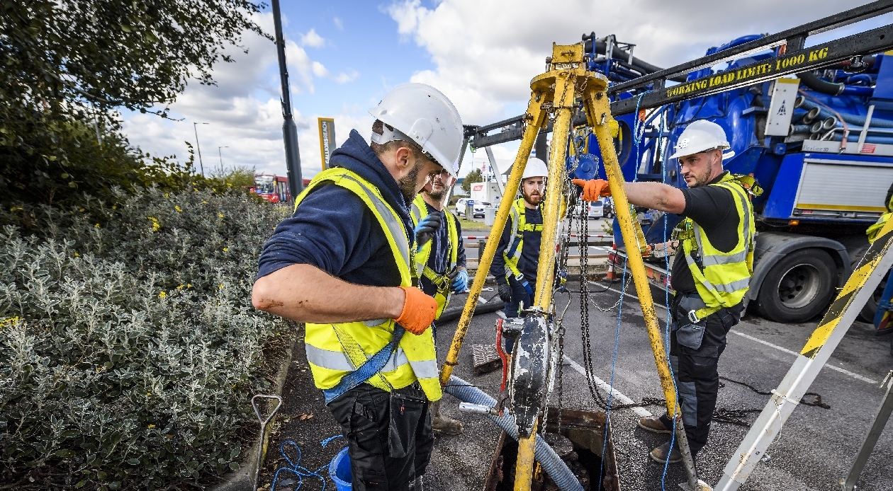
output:
[[[490,266],[496,278],[499,298],[505,302],[505,316],[517,317],[533,303],[537,286],[539,241],[543,233],[543,199],[546,192],[546,162],[531,157],[521,178],[522,197],[514,201],[499,246]],[[512,340],[505,340],[511,353]]]

